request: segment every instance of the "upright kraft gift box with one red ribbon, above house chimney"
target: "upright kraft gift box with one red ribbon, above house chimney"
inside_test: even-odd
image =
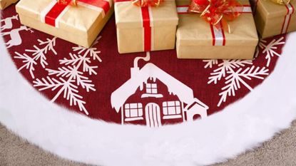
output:
[[[141,2],[143,1],[145,0]],[[175,31],[178,25],[175,1],[165,0],[159,6],[136,6],[134,3],[135,1],[120,0],[114,4],[118,52],[175,48]]]

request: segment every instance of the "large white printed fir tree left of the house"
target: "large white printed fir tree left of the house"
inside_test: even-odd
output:
[[[98,37],[93,43],[93,46],[98,43]],[[34,81],[34,87],[39,90],[57,90],[56,95],[51,102],[54,102],[58,97],[63,94],[63,98],[69,101],[70,105],[77,105],[79,110],[88,115],[88,110],[85,108],[86,101],[83,100],[83,96],[79,95],[78,88],[81,87],[86,92],[96,91],[95,85],[92,81],[83,76],[85,73],[88,75],[96,75],[95,69],[98,66],[91,66],[91,60],[101,62],[101,58],[98,56],[101,51],[97,51],[97,48],[83,48],[82,46],[73,47],[72,50],[75,53],[69,53],[70,58],[63,58],[59,60],[62,67],[57,69],[46,68],[48,76],[46,78],[36,79]],[[51,78],[50,76],[57,77]]]

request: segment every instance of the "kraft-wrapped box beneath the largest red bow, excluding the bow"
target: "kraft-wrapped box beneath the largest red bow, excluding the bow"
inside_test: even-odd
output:
[[[230,21],[232,33],[211,26],[200,14],[188,13],[188,1],[178,1],[178,58],[252,59],[258,43],[252,9],[248,1],[243,13]]]

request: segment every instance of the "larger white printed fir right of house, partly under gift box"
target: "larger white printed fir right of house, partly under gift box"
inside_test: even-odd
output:
[[[267,68],[256,68],[255,66],[252,66],[252,61],[250,60],[205,60],[204,62],[206,62],[205,68],[213,68],[214,65],[218,66],[218,68],[210,73],[208,84],[217,84],[218,81],[225,78],[225,86],[219,93],[220,100],[218,107],[227,100],[228,96],[235,96],[235,91],[242,88],[241,85],[252,90],[246,81],[250,81],[252,78],[262,80],[264,79],[263,76],[268,75]]]

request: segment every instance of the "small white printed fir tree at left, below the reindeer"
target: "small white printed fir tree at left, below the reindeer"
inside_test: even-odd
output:
[[[31,53],[30,56],[28,56],[28,54],[26,53],[21,54],[18,52],[15,52],[16,56],[14,56],[14,58],[20,59],[24,63],[24,65],[19,68],[19,71],[26,68],[26,70],[29,71],[32,78],[35,78],[34,66],[40,64],[42,68],[46,68],[46,66],[49,65],[49,63],[46,62],[47,60],[46,54],[49,51],[53,52],[55,55],[57,54],[53,48],[54,46],[56,46],[56,37],[52,39],[46,38],[46,41],[41,41],[40,39],[38,39],[38,41],[39,41],[39,47],[34,45],[33,46],[34,49],[25,50],[27,53]],[[41,48],[41,46],[43,46],[43,48]]]

